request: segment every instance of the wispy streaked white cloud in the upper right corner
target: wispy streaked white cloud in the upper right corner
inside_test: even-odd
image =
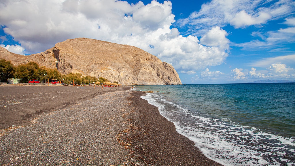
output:
[[[187,34],[201,36],[211,27],[232,25],[244,28],[261,25],[270,20],[288,17],[294,12],[293,0],[275,3],[265,0],[212,0],[188,18],[179,19],[178,25],[187,27]]]

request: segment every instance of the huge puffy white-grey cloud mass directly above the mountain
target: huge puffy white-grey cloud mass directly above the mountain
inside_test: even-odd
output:
[[[221,64],[229,40],[220,27],[209,28],[201,39],[180,35],[171,1],[117,0],[1,1],[0,22],[6,34],[27,53],[45,51],[68,38],[94,38],[139,47],[188,74]]]

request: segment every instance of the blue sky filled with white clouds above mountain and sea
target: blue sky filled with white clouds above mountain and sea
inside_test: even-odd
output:
[[[133,45],[183,84],[295,80],[294,0],[1,0],[0,46],[22,55],[69,38]]]

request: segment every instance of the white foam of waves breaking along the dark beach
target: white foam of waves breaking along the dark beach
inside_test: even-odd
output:
[[[142,98],[158,107],[160,114],[174,123],[176,131],[194,141],[206,157],[222,165],[281,165],[277,160],[295,164],[286,158],[286,152],[295,152],[294,138],[196,115],[157,94],[148,93]],[[171,110],[167,110],[168,105]]]

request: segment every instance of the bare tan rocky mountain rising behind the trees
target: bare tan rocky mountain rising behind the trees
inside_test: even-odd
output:
[[[14,65],[37,62],[62,74],[104,77],[123,85],[181,84],[171,64],[140,48],[88,38],[68,39],[42,53],[22,56],[0,47],[0,57]]]

